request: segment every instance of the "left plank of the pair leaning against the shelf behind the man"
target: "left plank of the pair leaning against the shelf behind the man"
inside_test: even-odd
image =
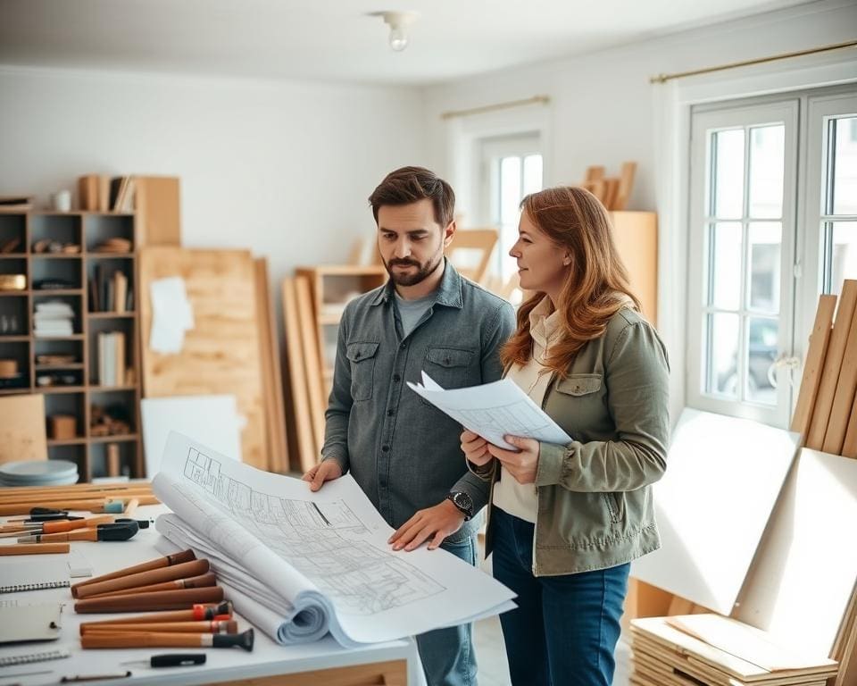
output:
[[[286,358],[288,361],[289,402],[288,411],[294,419],[296,455],[292,469],[304,473],[318,462],[320,446],[315,445],[310,417],[309,388],[306,382],[304,342],[301,337],[300,318],[297,311],[295,280],[283,279],[283,328],[286,332]]]

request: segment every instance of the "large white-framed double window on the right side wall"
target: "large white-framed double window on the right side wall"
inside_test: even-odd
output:
[[[857,97],[694,108],[690,183],[687,402],[786,426],[819,294],[857,278]]]

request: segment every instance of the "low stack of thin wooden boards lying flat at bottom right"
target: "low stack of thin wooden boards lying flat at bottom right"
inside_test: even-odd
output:
[[[824,686],[836,662],[720,615],[631,622],[635,686]]]

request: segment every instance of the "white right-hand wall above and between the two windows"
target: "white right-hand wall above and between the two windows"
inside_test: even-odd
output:
[[[522,120],[529,112],[536,128],[539,121],[548,120],[545,183],[576,183],[591,164],[618,173],[622,162],[636,160],[637,183],[629,209],[656,209],[654,105],[662,87],[651,85],[649,77],[853,40],[854,27],[853,0],[811,3],[428,88],[428,149],[434,153],[430,163],[467,188],[470,180],[461,178],[448,145],[462,124],[442,121],[440,113],[546,95],[550,105],[530,105],[515,114]],[[730,78],[736,74],[724,73]],[[497,116],[469,117],[464,126],[478,130],[478,121],[485,119],[492,129]]]

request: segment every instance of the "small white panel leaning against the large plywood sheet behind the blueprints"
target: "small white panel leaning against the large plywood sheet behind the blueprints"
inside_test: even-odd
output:
[[[241,428],[235,396],[145,397],[140,401],[146,476],[158,473],[170,431],[212,446],[241,462]]]

